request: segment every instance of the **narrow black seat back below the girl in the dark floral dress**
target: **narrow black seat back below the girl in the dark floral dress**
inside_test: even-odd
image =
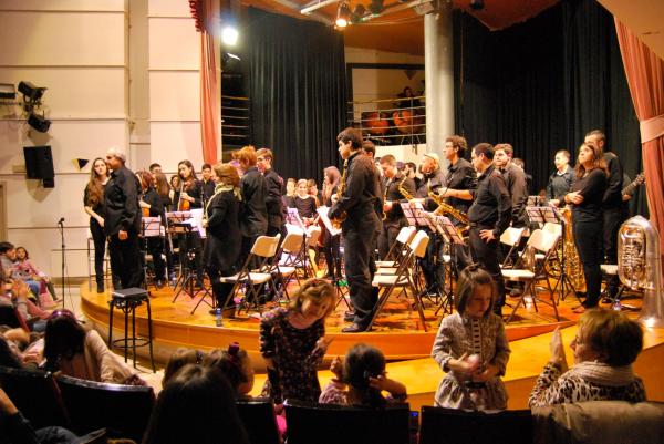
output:
[[[236,402],[240,420],[251,444],[280,444],[274,419],[274,404],[269,397],[253,397]]]

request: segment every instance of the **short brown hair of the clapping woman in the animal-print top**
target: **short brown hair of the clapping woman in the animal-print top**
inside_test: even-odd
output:
[[[588,310],[579,319],[582,340],[611,366],[629,365],[643,349],[639,322],[615,310]]]

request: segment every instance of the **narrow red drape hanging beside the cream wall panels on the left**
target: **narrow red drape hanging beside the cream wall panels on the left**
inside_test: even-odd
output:
[[[218,101],[215,34],[218,32],[219,0],[189,0],[196,29],[200,32],[200,142],[203,158],[217,163],[221,118]]]

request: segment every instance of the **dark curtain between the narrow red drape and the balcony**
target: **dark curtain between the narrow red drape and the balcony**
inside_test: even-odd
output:
[[[343,34],[321,23],[249,10],[251,143],[274,152],[286,179],[315,178],[340,165],[345,126]]]

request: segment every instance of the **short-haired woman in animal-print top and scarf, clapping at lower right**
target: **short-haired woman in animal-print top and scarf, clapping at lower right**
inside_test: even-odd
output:
[[[551,359],[537,379],[531,407],[584,401],[645,401],[645,388],[632,364],[643,348],[641,326],[620,311],[589,310],[570,343],[574,365],[568,370],[562,335],[551,338]]]

